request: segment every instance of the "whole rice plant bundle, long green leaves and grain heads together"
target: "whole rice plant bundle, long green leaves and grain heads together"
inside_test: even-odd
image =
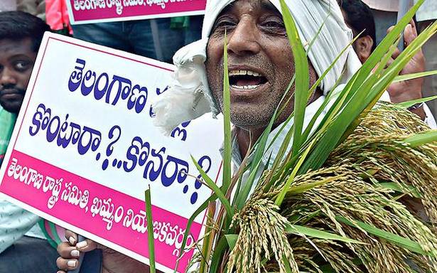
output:
[[[190,270],[437,272],[437,131],[406,111],[417,101],[400,105],[378,102],[392,82],[436,73],[397,76],[437,32],[437,22],[384,69],[422,3],[419,0],[399,21],[340,94],[328,95],[305,128],[309,95],[323,75],[315,86],[308,87],[306,51],[293,17],[281,1],[296,70],[291,81],[295,85],[294,112],[288,119],[293,119],[293,126],[279,154],[270,159],[271,167],[264,168],[261,159],[271,145],[267,137],[281,112],[278,107],[252,146],[251,160],[244,159],[233,177],[225,45],[223,183],[215,186],[198,167],[214,194],[188,222],[187,230],[193,219],[208,209],[207,231],[198,242],[201,253],[195,255]],[[325,107],[328,113],[316,123]],[[242,183],[244,172],[248,176]],[[220,200],[219,206],[214,205],[216,200]]]

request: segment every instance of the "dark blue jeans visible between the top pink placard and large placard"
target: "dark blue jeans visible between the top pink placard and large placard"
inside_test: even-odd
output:
[[[176,50],[200,38],[203,16],[73,25],[84,41],[172,63]]]

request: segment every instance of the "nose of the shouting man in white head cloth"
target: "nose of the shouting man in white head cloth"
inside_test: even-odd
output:
[[[228,36],[228,52],[237,55],[259,53],[261,47],[257,33],[257,23],[249,18],[242,18]]]

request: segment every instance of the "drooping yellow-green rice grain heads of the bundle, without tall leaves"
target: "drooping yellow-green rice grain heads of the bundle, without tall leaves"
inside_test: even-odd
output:
[[[421,129],[426,124],[409,112],[377,107],[323,168],[296,176],[280,208],[273,205],[274,197],[286,179],[265,193],[266,171],[242,212],[234,215],[239,237],[227,272],[287,272],[284,257],[291,272],[437,272],[437,236],[431,231],[437,205],[437,146],[414,147],[404,141]],[[317,183],[308,191],[298,190]],[[385,187],[387,183],[395,183],[398,191]],[[410,211],[402,198],[423,203],[428,219]],[[359,223],[418,243],[408,250],[370,234]],[[295,226],[355,242],[311,238]]]

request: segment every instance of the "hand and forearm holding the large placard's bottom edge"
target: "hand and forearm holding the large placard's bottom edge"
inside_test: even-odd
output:
[[[58,245],[60,255],[56,260],[56,265],[60,269],[58,273],[76,269],[79,266],[80,252],[89,252],[97,248],[102,250],[102,273],[149,272],[149,267],[146,264],[99,245],[92,240],[77,242],[77,235],[70,230],[65,230],[65,238],[68,242],[62,242]]]

